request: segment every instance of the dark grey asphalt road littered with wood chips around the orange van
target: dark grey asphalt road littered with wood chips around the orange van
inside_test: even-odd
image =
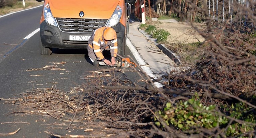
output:
[[[29,39],[28,34],[39,28],[42,6],[22,12],[17,12],[0,18],[0,98],[13,98],[15,94],[36,88],[51,88],[54,84],[60,91],[69,91],[70,88],[86,83],[83,78],[91,71],[106,69],[108,67],[95,67],[90,63],[87,50],[59,50],[54,49],[50,56],[41,56],[39,51],[39,32]],[[126,55],[133,57],[129,48]],[[37,70],[51,62],[67,62],[60,66],[65,70]],[[135,72],[125,72],[131,80],[136,80]],[[42,75],[42,76],[33,76]],[[84,134],[83,130],[52,129],[48,125],[58,120],[42,115],[9,114],[18,111],[19,106],[5,104],[0,101],[0,133],[9,133],[21,128],[15,135],[6,137],[41,138],[50,137],[44,131],[57,134]],[[37,121],[36,121],[37,120]],[[44,120],[44,121],[43,121]],[[1,124],[3,122],[28,122]]]

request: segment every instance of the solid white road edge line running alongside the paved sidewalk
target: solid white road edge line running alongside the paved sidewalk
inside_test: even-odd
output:
[[[128,48],[131,50],[131,52],[134,55],[135,59],[137,60],[138,64],[139,65],[146,65],[145,61],[142,59],[142,57],[140,56],[140,54],[138,53],[138,51],[135,49],[135,47],[133,46],[133,44],[131,43],[131,41],[128,38],[126,39],[126,44],[127,44]],[[147,67],[147,66],[140,66],[140,67],[150,77],[153,77],[154,79],[157,79],[156,75],[153,74],[152,70],[149,67]],[[154,84],[156,85],[157,88],[163,87],[163,85],[158,83],[158,82],[154,82]]]

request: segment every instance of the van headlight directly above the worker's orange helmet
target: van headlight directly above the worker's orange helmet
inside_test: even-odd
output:
[[[122,15],[122,9],[120,6],[117,6],[115,8],[114,13],[112,14],[111,18],[108,20],[106,26],[107,27],[111,27],[116,25],[117,23],[119,23],[120,19],[121,19],[121,15]]]

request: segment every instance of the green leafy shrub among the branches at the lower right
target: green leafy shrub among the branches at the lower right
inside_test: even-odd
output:
[[[231,105],[222,104],[221,111],[232,118],[255,124],[254,112],[242,102]],[[215,105],[204,106],[198,96],[193,96],[187,101],[181,100],[176,105],[167,103],[164,110],[158,111],[158,114],[167,125],[185,132],[193,130],[193,133],[199,133],[199,128],[219,127],[226,136],[238,137],[255,128],[255,125],[228,119],[223,113],[216,110]],[[155,124],[161,126],[160,122],[155,122]]]

